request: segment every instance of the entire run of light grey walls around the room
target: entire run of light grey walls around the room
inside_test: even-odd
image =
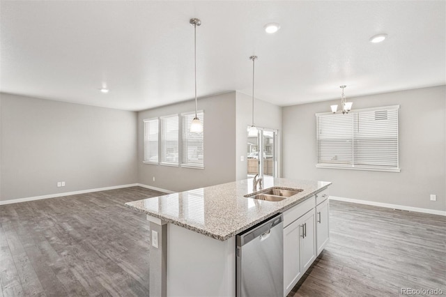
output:
[[[356,109],[401,105],[401,173],[314,166],[314,114],[339,100],[281,108],[256,99],[254,121],[279,130],[286,178],[332,181],[334,196],[444,211],[445,89],[349,98]],[[193,100],[135,113],[0,93],[0,201],[129,183],[181,191],[246,178],[251,97],[231,92],[203,98],[199,109],[206,116],[205,169],[187,169],[142,162],[142,120],[192,111]],[[57,181],[66,187],[57,188]],[[429,201],[430,194],[437,201]]]

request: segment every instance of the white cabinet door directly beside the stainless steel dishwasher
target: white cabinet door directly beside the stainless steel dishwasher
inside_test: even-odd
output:
[[[301,221],[295,220],[284,229],[284,295],[289,294],[300,278],[299,236]]]

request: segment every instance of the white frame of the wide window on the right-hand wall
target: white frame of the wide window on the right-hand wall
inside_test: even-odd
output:
[[[328,169],[351,169],[351,170],[366,170],[366,171],[378,171],[378,172],[401,172],[399,167],[399,105],[391,105],[391,106],[383,106],[383,107],[371,107],[364,109],[353,109],[348,115],[338,114],[338,116],[351,116],[352,121],[355,121],[355,114],[361,114],[365,112],[380,112],[380,111],[394,111],[396,110],[396,121],[393,125],[389,124],[389,127],[396,129],[396,167],[380,167],[379,165],[357,165],[355,164],[355,155],[358,154],[358,146],[359,144],[355,142],[355,137],[359,134],[359,132],[355,132],[355,124],[352,124],[351,127],[351,164],[333,164],[333,163],[318,163],[319,162],[319,153],[320,149],[320,116],[324,115],[333,115],[332,112],[321,112],[316,113],[316,168],[328,168]],[[334,116],[334,115],[333,115]],[[359,119],[358,116],[356,116]],[[377,128],[378,130],[378,128]],[[377,155],[379,158],[379,155]]]

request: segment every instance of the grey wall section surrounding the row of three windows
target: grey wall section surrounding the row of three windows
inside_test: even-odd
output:
[[[198,100],[204,112],[204,169],[144,164],[144,119],[192,112],[194,100],[138,113],[139,183],[175,192],[234,181],[236,178],[236,93]],[[153,177],[155,176],[155,181]]]

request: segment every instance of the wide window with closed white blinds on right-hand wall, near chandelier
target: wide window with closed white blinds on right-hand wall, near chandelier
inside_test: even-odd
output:
[[[398,109],[316,114],[316,167],[399,172]]]

